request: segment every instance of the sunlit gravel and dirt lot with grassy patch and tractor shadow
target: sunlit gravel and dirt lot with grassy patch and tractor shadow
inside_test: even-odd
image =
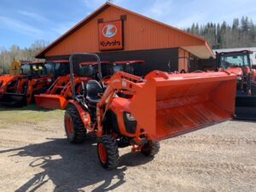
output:
[[[228,121],[161,142],[154,160],[119,149],[105,171],[94,138],[67,142],[62,111],[0,108],[0,191],[256,191],[256,123]]]

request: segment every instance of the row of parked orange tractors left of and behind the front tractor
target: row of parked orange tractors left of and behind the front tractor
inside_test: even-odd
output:
[[[134,65],[143,61],[103,61],[102,76],[105,84],[119,71],[134,72]],[[96,62],[79,63],[75,74],[76,92],[81,82],[98,79]],[[0,104],[21,107],[35,100],[38,106],[49,109],[64,109],[72,96],[68,60],[61,61],[13,61],[10,74],[0,77]]]

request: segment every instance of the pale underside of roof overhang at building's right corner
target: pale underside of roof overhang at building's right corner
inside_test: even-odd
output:
[[[205,41],[205,44],[195,46],[184,46],[181,48],[189,51],[189,53],[199,57],[200,59],[209,59],[216,57],[209,44],[207,44],[207,41]]]

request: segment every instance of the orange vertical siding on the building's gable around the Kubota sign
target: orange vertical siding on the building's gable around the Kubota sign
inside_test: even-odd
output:
[[[49,49],[45,56],[70,55],[74,52],[100,52],[97,20],[119,20],[120,15],[127,15],[127,20],[124,21],[125,50],[162,49],[205,44],[203,40],[178,32],[171,27],[122,9],[109,7],[59,44],[56,44],[54,48]]]

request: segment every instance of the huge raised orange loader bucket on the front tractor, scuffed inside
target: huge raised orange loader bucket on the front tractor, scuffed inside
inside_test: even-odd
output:
[[[228,73],[149,73],[131,99],[138,127],[153,140],[174,137],[231,119],[236,75]]]

